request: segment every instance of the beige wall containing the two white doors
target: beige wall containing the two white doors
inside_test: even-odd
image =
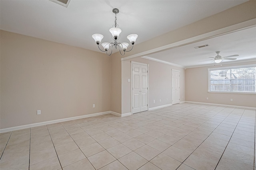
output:
[[[180,101],[182,102],[185,100],[185,70],[183,68],[140,57],[132,58],[132,61],[149,64],[149,108],[164,106],[172,103],[172,69],[180,70]],[[122,61],[122,114],[131,112],[131,82],[128,82],[128,78],[132,78],[131,60]],[[166,98],[168,98],[168,100],[166,100]],[[155,100],[155,103],[153,103],[153,100]]]

